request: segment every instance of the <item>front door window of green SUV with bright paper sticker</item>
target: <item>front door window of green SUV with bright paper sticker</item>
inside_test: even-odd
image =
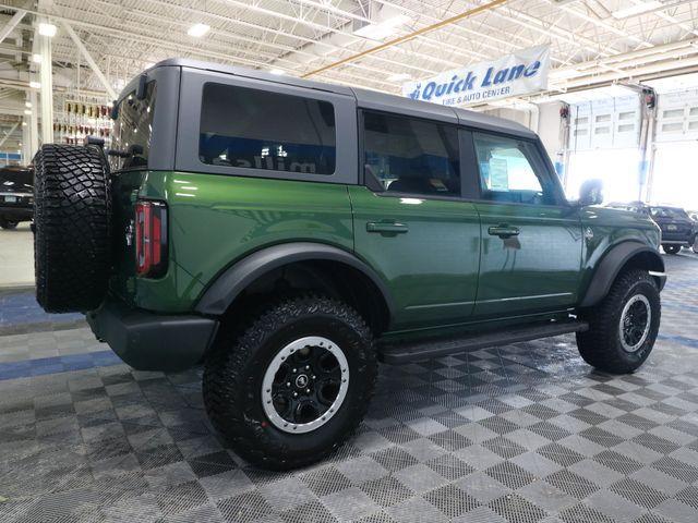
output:
[[[554,204],[554,190],[534,169],[529,142],[473,133],[482,198],[520,204]]]

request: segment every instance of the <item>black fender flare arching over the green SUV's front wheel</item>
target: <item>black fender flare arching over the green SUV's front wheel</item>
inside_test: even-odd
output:
[[[603,300],[611,290],[611,285],[618,276],[618,272],[621,272],[621,269],[623,269],[633,257],[639,254],[647,256],[651,260],[650,266],[646,268],[655,277],[661,291],[666,281],[664,262],[661,255],[645,243],[626,241],[612,246],[601,259],[599,267],[591,277],[580,306],[590,307]]]

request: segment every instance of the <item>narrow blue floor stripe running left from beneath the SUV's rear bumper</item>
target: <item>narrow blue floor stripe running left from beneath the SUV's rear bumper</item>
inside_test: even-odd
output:
[[[68,373],[70,370],[84,370],[86,368],[108,367],[121,363],[123,362],[119,356],[111,351],[0,363],[0,381],[47,374]]]

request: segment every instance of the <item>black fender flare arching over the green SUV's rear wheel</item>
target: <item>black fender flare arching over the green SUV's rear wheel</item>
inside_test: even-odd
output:
[[[284,265],[303,260],[339,262],[359,270],[378,289],[387,305],[389,317],[393,318],[395,308],[390,292],[371,267],[350,252],[313,242],[272,245],[238,260],[224,270],[204,291],[196,304],[196,312],[206,316],[220,316],[234,299],[257,278]]]

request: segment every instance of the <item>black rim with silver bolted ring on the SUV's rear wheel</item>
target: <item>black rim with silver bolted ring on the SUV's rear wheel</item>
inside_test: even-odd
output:
[[[291,434],[310,433],[339,410],[349,388],[349,364],[337,343],[320,336],[281,349],[262,382],[262,406],[272,424]]]

